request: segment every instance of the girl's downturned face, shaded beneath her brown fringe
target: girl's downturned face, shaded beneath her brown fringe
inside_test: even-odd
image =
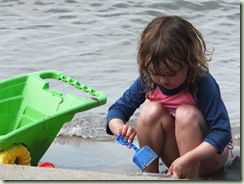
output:
[[[163,70],[162,70],[163,71]],[[149,75],[153,82],[165,87],[166,89],[174,89],[183,84],[186,80],[186,70],[180,69],[175,74],[169,74],[168,72],[161,72],[159,75],[155,72],[153,67],[149,67]],[[168,74],[167,74],[168,73]]]

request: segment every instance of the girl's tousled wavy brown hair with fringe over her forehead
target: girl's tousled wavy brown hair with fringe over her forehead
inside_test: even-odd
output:
[[[154,85],[149,65],[158,75],[164,75],[160,68],[174,75],[179,71],[175,71],[174,66],[178,66],[187,72],[184,90],[196,98],[196,79],[209,71],[207,62],[211,58],[207,56],[211,54],[208,54],[202,34],[190,22],[179,16],[157,17],[144,29],[139,42],[137,63],[140,77],[146,90],[150,90]]]

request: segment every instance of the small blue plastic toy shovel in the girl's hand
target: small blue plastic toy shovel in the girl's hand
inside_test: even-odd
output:
[[[141,149],[138,149],[133,143],[124,140],[122,134],[118,135],[116,140],[124,146],[129,145],[136,151],[136,154],[133,157],[133,162],[142,170],[142,172],[158,157],[149,146],[143,146]]]

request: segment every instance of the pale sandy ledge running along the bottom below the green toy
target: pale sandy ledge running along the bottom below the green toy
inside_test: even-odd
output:
[[[94,171],[0,165],[0,180],[173,180],[163,174],[114,174]]]

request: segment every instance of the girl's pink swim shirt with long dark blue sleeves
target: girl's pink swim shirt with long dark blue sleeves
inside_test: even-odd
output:
[[[201,110],[208,126],[211,128],[204,141],[214,146],[219,153],[222,153],[231,141],[232,135],[228,113],[221,99],[219,86],[209,73],[206,77],[199,78],[196,84],[198,91],[196,94],[197,99],[194,100],[190,93],[184,92],[183,85],[168,90],[155,84],[155,89],[146,92],[141,79],[138,77],[130,88],[109,108],[106,125],[107,133],[112,135],[108,127],[108,122],[111,119],[119,118],[125,123],[128,122],[135,110],[146,99],[162,103],[170,112],[174,111],[180,104],[187,103]]]

